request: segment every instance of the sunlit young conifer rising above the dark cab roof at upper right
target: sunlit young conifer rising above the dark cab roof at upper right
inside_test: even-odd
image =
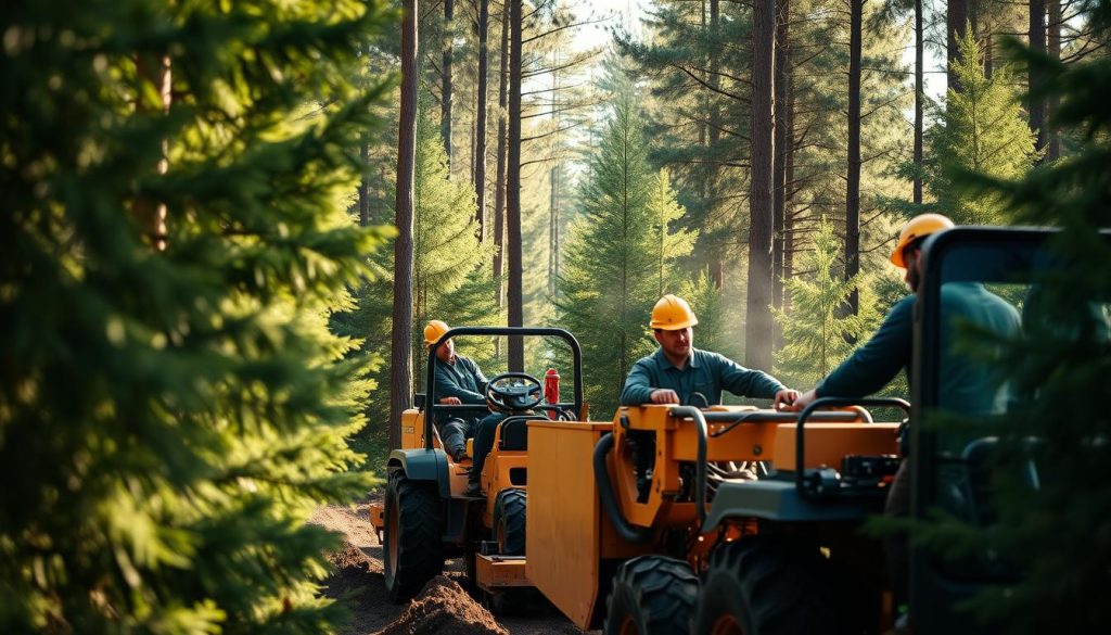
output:
[[[1037,135],[1027,125],[1007,67],[991,78],[984,76],[983,56],[971,29],[960,48],[953,71],[961,90],[949,90],[944,116],[929,131],[925,183],[937,198],[935,207],[958,225],[999,225],[1008,220],[1000,198],[961,187],[960,175],[1021,178],[1038,158]]]

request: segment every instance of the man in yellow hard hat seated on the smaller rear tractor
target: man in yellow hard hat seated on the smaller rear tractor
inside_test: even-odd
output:
[[[448,333],[450,327],[438,319],[424,327],[424,347],[429,348]],[[482,369],[469,357],[456,355],[456,344],[451,339],[436,349],[436,396],[440,404],[448,406],[486,404],[487,378]],[[443,449],[456,463],[470,458],[467,456],[467,437],[473,434],[478,417],[450,417],[437,421],[440,428],[440,439]]]

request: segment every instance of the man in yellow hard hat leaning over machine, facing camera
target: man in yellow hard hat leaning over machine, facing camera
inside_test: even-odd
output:
[[[698,318],[687,300],[667,295],[655,302],[649,326],[660,345],[633,364],[621,390],[622,406],[721,403],[722,389],[740,397],[774,399],[774,407],[794,403],[798,390],[761,370],[750,370],[717,353],[694,348]],[[694,394],[705,403],[694,404]]]

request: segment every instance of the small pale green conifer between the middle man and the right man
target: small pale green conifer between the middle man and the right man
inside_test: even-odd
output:
[[[794,383],[812,386],[843,361],[855,344],[878,325],[874,301],[863,274],[845,280],[838,266],[842,247],[833,225],[822,219],[814,250],[803,258],[809,276],[784,280],[791,294],[791,311],[772,309],[783,329],[783,348],[775,354],[777,373]],[[843,315],[853,289],[859,289],[860,311]]]

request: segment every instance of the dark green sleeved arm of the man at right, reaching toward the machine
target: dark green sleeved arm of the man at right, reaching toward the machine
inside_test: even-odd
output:
[[[867,344],[830,373],[815,397],[864,397],[879,391],[904,367],[913,348],[914,296],[908,296],[888,311],[883,324]]]

